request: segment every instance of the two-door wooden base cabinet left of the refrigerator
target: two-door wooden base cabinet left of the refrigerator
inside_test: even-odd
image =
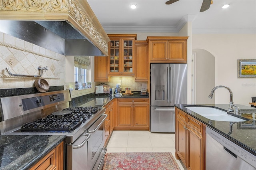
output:
[[[149,99],[117,99],[115,130],[149,130]]]

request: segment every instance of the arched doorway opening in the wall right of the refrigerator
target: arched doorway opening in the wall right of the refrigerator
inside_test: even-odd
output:
[[[204,49],[192,50],[192,104],[214,104],[208,98],[215,87],[215,57]]]

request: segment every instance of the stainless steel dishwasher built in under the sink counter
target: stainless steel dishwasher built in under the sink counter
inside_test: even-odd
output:
[[[256,170],[256,156],[206,127],[206,170]]]

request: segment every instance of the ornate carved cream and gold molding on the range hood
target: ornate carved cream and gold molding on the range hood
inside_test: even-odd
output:
[[[33,24],[40,24],[42,21],[54,21],[55,23],[58,21],[67,22],[77,32],[82,34],[83,38],[100,49],[103,55],[108,55],[108,42],[110,39],[90,8],[87,0],[1,0],[0,20],[35,21]],[[47,23],[45,25],[50,24]],[[8,29],[5,28],[5,30]],[[62,28],[62,30],[64,29]],[[55,32],[53,33],[55,34]],[[78,39],[80,39],[78,42],[80,44],[81,37]],[[72,44],[72,42],[68,43]],[[80,46],[82,45],[80,44]],[[67,46],[65,45],[63,48],[67,48]],[[66,49],[64,55],[65,53]]]

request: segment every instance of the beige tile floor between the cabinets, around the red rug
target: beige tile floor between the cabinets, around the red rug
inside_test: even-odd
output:
[[[114,130],[107,145],[107,152],[172,152],[174,156],[174,141],[174,133]],[[186,170],[181,160],[176,161],[181,170]]]

